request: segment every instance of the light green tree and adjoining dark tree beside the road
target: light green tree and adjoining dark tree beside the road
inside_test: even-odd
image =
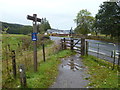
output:
[[[77,34],[94,32],[120,38],[120,7],[116,2],[103,2],[95,17],[87,9],[80,10],[74,21]]]

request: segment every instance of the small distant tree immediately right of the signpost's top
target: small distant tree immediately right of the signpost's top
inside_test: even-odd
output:
[[[47,31],[47,29],[51,29],[51,26],[50,26],[48,20],[46,20],[46,18],[43,18],[41,21],[41,24],[38,25],[38,32],[44,33]]]

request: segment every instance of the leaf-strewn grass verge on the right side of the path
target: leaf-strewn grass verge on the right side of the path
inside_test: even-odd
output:
[[[112,70],[111,63],[94,56],[85,56],[83,63],[88,67],[88,73],[91,75],[89,86],[94,88],[118,88],[117,66]]]

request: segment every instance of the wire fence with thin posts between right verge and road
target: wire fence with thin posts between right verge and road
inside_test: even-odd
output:
[[[115,64],[119,65],[119,50],[115,44],[89,42],[88,53],[113,63],[113,68]]]

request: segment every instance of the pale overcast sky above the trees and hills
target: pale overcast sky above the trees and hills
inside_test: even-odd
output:
[[[69,30],[75,28],[77,13],[87,9],[92,16],[106,0],[0,0],[0,21],[32,25],[27,15],[37,14],[47,18],[52,28]]]

